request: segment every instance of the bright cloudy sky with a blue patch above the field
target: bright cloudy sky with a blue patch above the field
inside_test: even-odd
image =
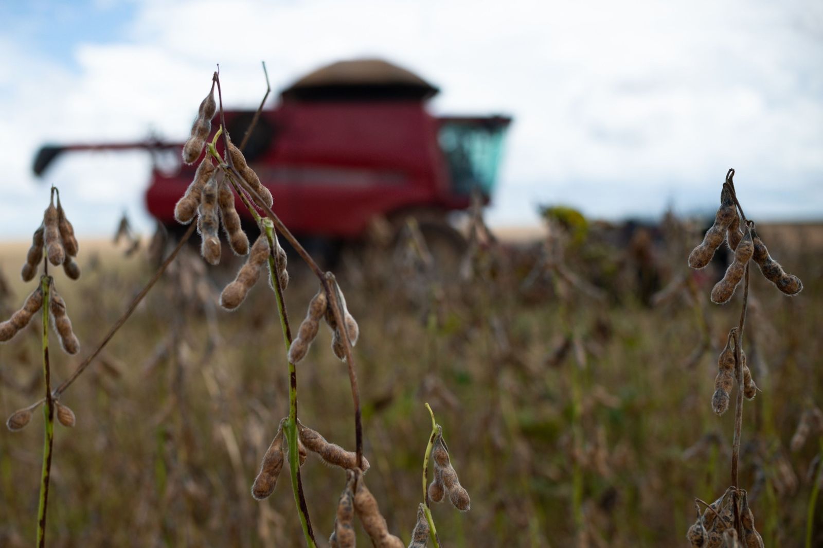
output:
[[[46,142],[183,141],[216,63],[256,108],[326,63],[380,57],[439,86],[437,114],[509,114],[491,225],[537,207],[655,218],[714,211],[729,167],[746,216],[823,219],[823,2],[281,0],[0,2],[0,239],[39,225],[49,185],[80,235],[123,211],[151,230],[146,153]],[[276,100],[272,94],[269,106]]]

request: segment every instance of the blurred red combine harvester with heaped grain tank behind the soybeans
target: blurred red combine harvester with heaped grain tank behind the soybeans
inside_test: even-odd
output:
[[[245,156],[272,192],[277,215],[301,238],[358,239],[375,217],[397,226],[410,215],[424,235],[442,235],[449,211],[466,209],[472,191],[491,197],[511,118],[434,116],[426,102],[437,92],[384,61],[333,63],[296,81],[274,109],[263,110]],[[253,115],[226,110],[235,142]],[[179,158],[182,146],[44,146],[34,170],[42,174],[63,151],[140,148],[174,151]],[[179,230],[174,204],[194,175],[193,166],[177,164],[171,173],[155,166],[146,191],[148,211],[172,230]],[[237,209],[244,211],[239,203]]]

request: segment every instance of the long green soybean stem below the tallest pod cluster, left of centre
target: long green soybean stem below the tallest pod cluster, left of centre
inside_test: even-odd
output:
[[[243,195],[240,194],[240,196]],[[254,211],[253,207],[250,207],[249,211],[253,211],[253,215],[256,216],[257,212]],[[268,239],[268,272],[271,278],[272,288],[274,288],[274,295],[277,298],[277,313],[280,316],[280,326],[283,330],[283,340],[286,341],[286,354],[288,354],[289,348],[291,347],[291,329],[289,328],[289,318],[286,312],[286,303],[283,301],[280,281],[277,279],[274,224],[268,219],[263,219],[261,225],[263,226],[263,230],[266,231],[266,238]],[[289,418],[283,425],[283,430],[286,432],[286,443],[289,445],[291,490],[295,495],[297,515],[300,517],[300,526],[303,527],[306,546],[314,548],[314,546],[316,546],[314,532],[312,531],[311,522],[309,521],[309,508],[303,494],[303,482],[300,480],[300,451],[297,447],[297,370],[295,369],[295,365],[291,363],[291,360],[289,360]]]

